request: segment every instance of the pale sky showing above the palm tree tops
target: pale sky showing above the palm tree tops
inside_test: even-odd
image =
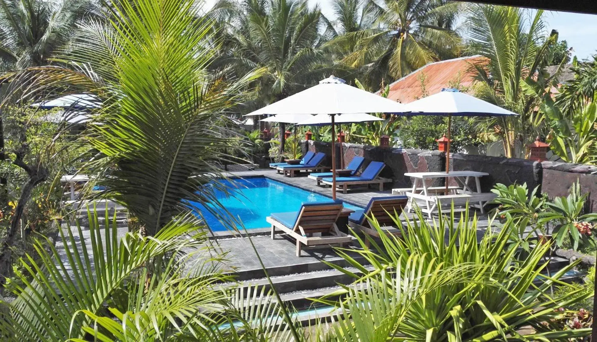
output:
[[[576,0],[564,0],[576,1]],[[215,0],[207,0],[207,6],[211,7]],[[322,13],[334,19],[330,0],[309,0],[310,4],[319,4]],[[559,32],[559,39],[568,42],[568,47],[574,49],[573,56],[579,60],[589,58],[597,53],[597,15],[580,14],[550,11],[545,14],[546,31],[556,29]]]

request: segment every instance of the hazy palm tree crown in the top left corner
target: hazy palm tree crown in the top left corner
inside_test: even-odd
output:
[[[90,0],[0,0],[0,70],[48,64],[96,13]]]

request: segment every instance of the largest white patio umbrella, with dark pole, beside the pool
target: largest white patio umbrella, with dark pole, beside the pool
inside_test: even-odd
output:
[[[264,114],[328,114],[332,136],[336,115],[356,113],[404,113],[404,105],[379,95],[344,84],[343,79],[330,76],[318,85],[253,111],[247,115]],[[332,198],[336,200],[336,153],[332,148]]]

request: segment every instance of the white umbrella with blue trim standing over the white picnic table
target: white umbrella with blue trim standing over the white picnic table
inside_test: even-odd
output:
[[[518,116],[518,114],[497,105],[464,94],[454,88],[444,88],[405,105],[407,115],[448,116],[448,150],[446,151],[446,173],[450,172],[450,131],[452,116]],[[448,182],[446,182],[446,192]]]

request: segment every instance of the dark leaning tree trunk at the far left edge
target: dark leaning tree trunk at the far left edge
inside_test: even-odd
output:
[[[29,165],[24,163],[21,154],[17,153],[17,158],[13,162],[17,166],[21,167],[29,175],[29,179],[21,188],[21,195],[17,201],[17,207],[14,209],[14,216],[10,222],[10,226],[7,227],[6,238],[0,247],[0,296],[4,297],[4,285],[6,285],[6,279],[11,275],[12,271],[12,251],[14,245],[14,238],[19,230],[21,217],[23,216],[23,210],[25,205],[31,198],[31,192],[39,183],[45,181],[48,178],[48,171],[44,167],[38,167],[32,169]]]

